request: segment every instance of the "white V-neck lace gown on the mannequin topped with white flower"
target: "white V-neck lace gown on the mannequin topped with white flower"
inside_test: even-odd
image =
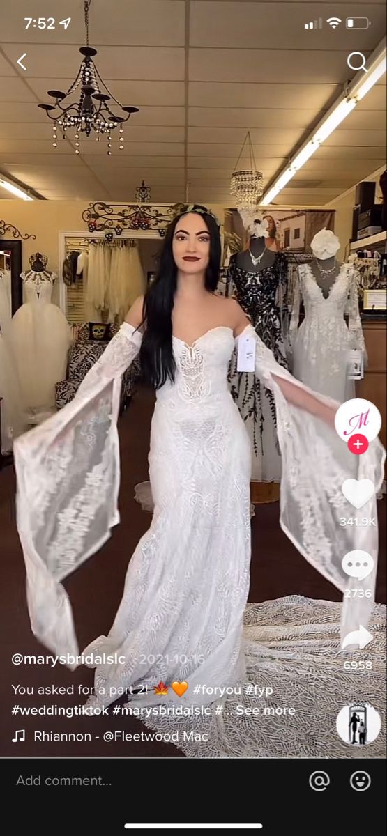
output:
[[[305,385],[343,403],[355,397],[354,380],[348,379],[348,352],[360,349],[365,356],[359,273],[351,264],[342,264],[328,298],[324,298],[308,264],[301,264],[298,273],[289,334],[292,373]],[[305,319],[298,328],[301,298]],[[348,313],[348,325],[344,313]]]

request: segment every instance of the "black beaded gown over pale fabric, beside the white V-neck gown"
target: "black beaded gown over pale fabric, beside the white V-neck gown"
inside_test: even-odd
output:
[[[287,368],[281,329],[279,291],[285,293],[286,256],[279,252],[271,267],[248,273],[238,267],[238,255],[231,256],[227,273],[227,295],[233,295],[251,320],[256,334],[273,352],[277,363]],[[253,482],[280,482],[281,454],[276,436],[276,406],[271,390],[252,372],[237,371],[234,352],[228,375],[231,395],[249,431],[252,445]]]

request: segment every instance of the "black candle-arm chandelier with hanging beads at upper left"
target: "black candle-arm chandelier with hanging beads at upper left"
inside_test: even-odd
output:
[[[89,46],[89,9],[91,0],[85,0],[85,29],[86,46],[80,48],[80,54],[84,55],[78,75],[71,84],[67,93],[61,90],[48,90],[47,94],[55,99],[55,104],[39,104],[38,107],[45,110],[49,119],[54,122],[53,147],[57,147],[58,130],[62,131],[63,139],[67,137],[66,131],[69,128],[75,129],[75,154],[80,154],[80,134],[90,136],[91,131],[96,134],[97,142],[101,135],[107,136],[107,153],[111,155],[111,131],[119,126],[119,148],[123,150],[124,129],[122,124],[127,122],[132,113],[138,113],[137,107],[123,107],[113,96],[111,91],[101,79],[101,75],[95,67],[93,57],[97,50]],[[80,88],[80,99],[66,104],[71,94]],[[126,116],[115,115],[111,107],[114,104],[126,114]]]

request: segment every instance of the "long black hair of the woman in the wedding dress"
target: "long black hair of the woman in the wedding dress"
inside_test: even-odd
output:
[[[220,232],[213,215],[205,206],[193,204],[180,212],[169,224],[160,253],[156,277],[147,288],[142,308],[142,324],[145,333],[140,349],[142,375],[156,389],[166,383],[173,383],[176,364],[172,345],[172,311],[174,295],[178,286],[178,268],[173,258],[173,235],[178,221],[189,212],[203,216],[209,229],[209,263],[205,271],[204,287],[214,292],[219,281]]]

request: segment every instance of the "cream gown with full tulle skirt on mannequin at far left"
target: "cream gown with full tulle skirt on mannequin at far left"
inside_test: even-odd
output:
[[[65,380],[70,326],[51,303],[55,273],[22,273],[23,305],[13,315],[10,339],[18,369],[23,410],[30,424],[55,411],[55,383]]]

